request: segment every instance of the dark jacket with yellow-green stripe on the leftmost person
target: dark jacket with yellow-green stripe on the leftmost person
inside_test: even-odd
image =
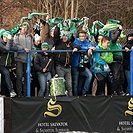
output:
[[[4,50],[10,50],[13,45],[13,40],[8,40],[7,43],[0,38],[0,65],[9,67],[11,66],[11,53],[4,52]]]

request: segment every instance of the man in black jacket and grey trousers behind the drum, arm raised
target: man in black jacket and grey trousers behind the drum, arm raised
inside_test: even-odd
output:
[[[68,31],[62,32],[60,39],[60,29],[55,27],[54,31],[55,50],[73,50],[73,52],[80,49],[80,46],[70,41],[70,34]],[[72,96],[72,76],[71,76],[71,57],[70,52],[55,53],[56,73],[59,77],[63,77],[66,83],[68,95]]]

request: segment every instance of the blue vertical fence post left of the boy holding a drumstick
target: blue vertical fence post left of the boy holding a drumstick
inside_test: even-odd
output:
[[[30,66],[31,66],[31,60],[30,60],[30,52],[27,53],[27,96],[30,97]]]

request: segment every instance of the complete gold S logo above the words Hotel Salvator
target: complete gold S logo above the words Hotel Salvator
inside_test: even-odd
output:
[[[44,117],[51,116],[51,117],[57,117],[62,112],[62,107],[59,104],[56,104],[56,101],[53,101],[52,99],[49,100],[47,104],[47,110],[44,112]]]

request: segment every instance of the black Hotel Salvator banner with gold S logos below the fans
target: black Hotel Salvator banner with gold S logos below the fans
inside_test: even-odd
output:
[[[12,133],[133,132],[130,96],[11,99]]]

